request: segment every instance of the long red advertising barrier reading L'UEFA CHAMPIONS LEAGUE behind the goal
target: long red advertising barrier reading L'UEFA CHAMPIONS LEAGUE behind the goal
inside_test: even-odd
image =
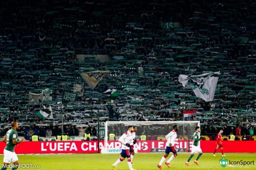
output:
[[[233,153],[256,153],[256,141],[222,141],[224,152]],[[144,140],[138,141],[134,150],[138,153],[164,153],[166,141]],[[104,141],[100,141],[100,151],[104,147]],[[175,148],[178,152],[190,152],[192,141],[176,141]],[[0,142],[0,154],[6,143]],[[201,140],[200,147],[203,152],[213,152],[216,148],[216,141]],[[108,153],[120,153],[121,143],[109,141]],[[98,153],[98,141],[28,141],[19,143],[15,152],[17,154],[47,154],[47,153]],[[218,151],[220,152],[220,150]]]

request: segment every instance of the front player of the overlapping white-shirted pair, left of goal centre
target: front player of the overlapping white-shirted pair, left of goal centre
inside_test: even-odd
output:
[[[121,157],[117,159],[117,161],[111,165],[113,170],[116,169],[116,166],[125,160],[127,157],[127,163],[129,166],[130,170],[134,170],[131,166],[131,156],[130,156],[130,143],[133,141],[133,135],[132,135],[132,126],[128,126],[127,132],[125,132],[118,140],[119,142],[122,143],[122,152],[121,152]]]

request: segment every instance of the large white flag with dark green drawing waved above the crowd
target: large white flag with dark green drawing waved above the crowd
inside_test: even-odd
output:
[[[217,82],[219,79],[219,71],[204,73],[200,75],[183,75],[179,76],[179,82],[183,87],[191,88],[197,97],[209,102],[213,101]]]

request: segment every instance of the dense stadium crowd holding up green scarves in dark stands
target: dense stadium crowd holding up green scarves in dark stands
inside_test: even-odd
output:
[[[255,2],[30,2],[0,2],[0,136],[12,120],[18,133],[56,136],[63,117],[67,135],[95,136],[98,116],[182,121],[184,110],[197,111],[185,119],[200,120],[202,135],[220,128],[224,135],[256,135]],[[84,61],[77,59],[81,49]],[[99,51],[111,61],[96,60]],[[111,73],[91,90],[79,73],[96,70]],[[212,71],[221,72],[212,102],[178,81],[180,74]],[[106,86],[119,96],[103,95]],[[63,92],[75,87],[76,100],[64,102]],[[29,92],[42,88],[52,88],[52,118],[37,114],[45,102],[30,101]]]

